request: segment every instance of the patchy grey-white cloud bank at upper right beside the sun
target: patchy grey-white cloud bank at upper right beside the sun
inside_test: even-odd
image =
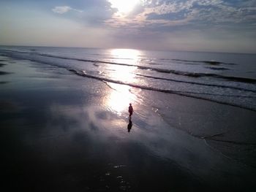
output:
[[[112,17],[106,23],[124,28],[152,28],[162,30],[180,26],[187,28],[252,28],[256,23],[256,4],[253,0],[144,0],[140,12],[129,17]],[[168,29],[167,29],[168,30]]]

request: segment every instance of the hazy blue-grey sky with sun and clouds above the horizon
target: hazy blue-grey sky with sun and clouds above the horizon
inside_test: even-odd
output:
[[[256,53],[256,0],[0,0],[0,45]]]

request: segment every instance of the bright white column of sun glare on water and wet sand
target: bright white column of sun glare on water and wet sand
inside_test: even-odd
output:
[[[135,64],[138,62],[140,51],[129,49],[115,49],[110,51],[111,57],[116,58],[122,64]],[[127,83],[136,83],[136,66],[110,65],[110,77],[113,80],[118,80]],[[129,85],[121,85],[116,83],[109,83],[108,85],[113,90],[106,97],[105,104],[118,115],[122,113],[128,114],[129,103],[135,104],[137,97],[131,93]]]

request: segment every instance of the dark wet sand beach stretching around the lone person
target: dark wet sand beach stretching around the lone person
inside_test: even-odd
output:
[[[196,93],[159,92],[157,86],[150,90],[143,80],[138,88],[133,82],[119,83],[121,76],[108,82],[108,76],[99,80],[85,73],[74,75],[70,66],[38,62],[0,56],[1,170],[6,185],[2,187],[20,191],[256,188],[255,92],[241,90],[243,82],[236,93],[228,85],[230,93],[249,92],[246,98],[251,100],[238,103],[215,96],[212,101]],[[104,62],[94,62],[93,67]],[[255,84],[246,89],[251,87]],[[135,110],[132,123],[129,102]]]

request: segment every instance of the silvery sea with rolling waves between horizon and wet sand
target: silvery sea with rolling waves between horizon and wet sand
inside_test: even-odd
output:
[[[0,54],[129,85],[256,111],[256,55],[74,47],[0,47]]]

